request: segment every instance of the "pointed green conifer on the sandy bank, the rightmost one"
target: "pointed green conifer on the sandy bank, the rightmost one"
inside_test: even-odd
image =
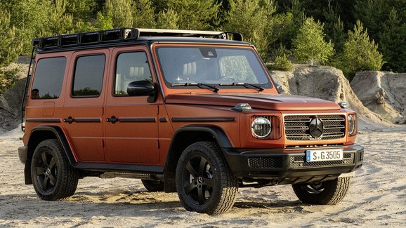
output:
[[[351,81],[355,72],[361,70],[379,70],[384,65],[382,54],[373,40],[369,40],[367,29],[360,20],[354,26],[354,32],[348,31],[348,40],[344,43],[344,51],[339,62],[339,69]]]

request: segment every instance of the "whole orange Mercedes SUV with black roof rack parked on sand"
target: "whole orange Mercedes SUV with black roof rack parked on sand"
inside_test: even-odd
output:
[[[236,32],[124,28],[32,44],[18,154],[41,199],[96,176],[141,179],[209,215],[233,207],[238,187],[292,185],[303,203],[335,204],[362,166],[355,112],[278,94]]]

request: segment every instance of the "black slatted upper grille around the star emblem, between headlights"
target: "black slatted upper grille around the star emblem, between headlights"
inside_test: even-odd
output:
[[[309,124],[316,116],[284,116],[284,132],[287,140],[333,140],[346,135],[346,118],[341,115],[317,116],[323,123],[319,138],[310,135]]]

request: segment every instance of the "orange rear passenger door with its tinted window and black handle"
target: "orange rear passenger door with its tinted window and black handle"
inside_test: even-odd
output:
[[[108,49],[72,55],[65,93],[64,126],[79,161],[103,162],[103,102]]]

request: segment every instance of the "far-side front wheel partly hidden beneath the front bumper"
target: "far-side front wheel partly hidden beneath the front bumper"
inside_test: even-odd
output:
[[[334,205],[346,196],[351,177],[339,177],[335,180],[313,184],[292,185],[294,193],[303,203]]]

